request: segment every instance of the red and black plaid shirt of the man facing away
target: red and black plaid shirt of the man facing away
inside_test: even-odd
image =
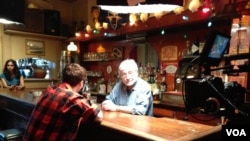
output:
[[[80,123],[95,117],[86,99],[67,84],[48,87],[32,112],[23,141],[74,141]]]

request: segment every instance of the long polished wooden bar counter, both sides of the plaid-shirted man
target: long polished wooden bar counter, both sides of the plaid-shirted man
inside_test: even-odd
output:
[[[24,91],[0,89],[0,109],[27,121],[38,99],[30,93],[33,90],[37,89]],[[113,140],[210,140],[214,137],[218,140],[221,130],[220,125],[209,126],[165,117],[108,111],[103,111],[103,115],[103,121],[98,124],[98,132],[96,132],[96,134],[100,133],[100,140],[112,140],[112,137]]]

